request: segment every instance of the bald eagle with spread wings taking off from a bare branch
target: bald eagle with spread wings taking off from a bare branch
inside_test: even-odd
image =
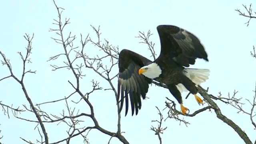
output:
[[[159,57],[151,61],[144,56],[130,50],[123,49],[119,53],[118,67],[118,100],[120,112],[126,104],[125,116],[128,113],[129,99],[136,115],[141,109],[142,101],[146,98],[149,84],[152,80],[166,84],[170,93],[180,104],[180,109],[185,115],[188,108],[183,106],[181,93],[189,91],[194,94],[200,104],[202,99],[197,96],[197,86],[205,82],[210,75],[208,69],[185,68],[195,64],[196,58],[208,62],[208,55],[200,40],[192,33],[172,25],[157,26],[160,38],[161,51]],[[128,96],[129,95],[129,96]]]

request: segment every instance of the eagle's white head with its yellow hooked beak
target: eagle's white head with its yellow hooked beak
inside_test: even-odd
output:
[[[160,66],[158,66],[158,64],[153,62],[147,66],[143,66],[142,68],[140,68],[139,74],[143,74],[148,78],[154,79],[162,74],[162,70]]]

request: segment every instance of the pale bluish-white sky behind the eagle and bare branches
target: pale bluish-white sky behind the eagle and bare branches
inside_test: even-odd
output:
[[[194,33],[204,44],[209,55],[209,62],[197,60],[192,68],[208,68],[211,70],[210,79],[207,80],[202,87],[209,87],[209,93],[218,96],[221,92],[223,96],[227,96],[238,90],[238,97],[248,98],[252,100],[255,88],[255,60],[250,56],[252,46],[255,45],[256,22],[251,21],[246,27],[244,24],[247,19],[238,16],[236,8],[243,10],[242,4],[249,5],[252,0],[246,1],[206,1],[198,0],[196,2],[190,0],[94,0],[84,1],[64,1],[56,0],[58,6],[66,10],[62,14],[62,18],[70,18],[65,33],[72,31],[76,34],[76,46],[80,46],[80,33],[84,37],[90,33],[91,38],[96,40],[96,34],[90,25],[101,26],[102,40],[106,38],[113,46],[119,46],[120,49],[129,49],[137,52],[147,58],[150,58],[150,52],[145,44],[139,44],[140,40],[135,38],[138,31],[147,32],[151,30],[154,34],[151,39],[155,43],[156,53],[160,52],[160,41],[156,31],[156,26],[160,24],[172,24],[180,26]],[[255,2],[252,4],[256,4]],[[256,8],[256,5],[253,8]],[[14,74],[21,77],[22,61],[18,51],[25,52],[27,45],[23,38],[25,33],[33,34],[33,51],[31,55],[32,64],[27,65],[27,69],[37,70],[36,74],[28,74],[25,77],[25,84],[30,98],[34,104],[57,100],[68,96],[74,90],[68,84],[68,80],[74,82],[74,76],[71,71],[66,69],[51,71],[50,64],[61,66],[64,57],[55,61],[46,62],[50,56],[54,56],[63,52],[60,44],[56,44],[51,37],[57,37],[54,32],[49,32],[50,28],[57,28],[52,23],[57,18],[57,11],[52,0],[47,1],[30,1],[23,0],[17,2],[14,0],[5,0],[0,5],[1,13],[1,51],[11,60]],[[88,52],[95,56],[99,53],[98,48],[88,45]],[[150,58],[152,60],[152,58]],[[1,59],[2,60],[2,59]],[[118,72],[117,66],[114,69]],[[0,78],[8,76],[9,72],[6,66],[0,67]],[[85,69],[87,77],[82,79],[81,85],[83,92],[91,90],[90,81],[100,81],[100,86],[109,88],[107,83],[94,74],[92,70]],[[114,83],[116,84],[116,83]],[[21,86],[9,78],[0,82],[1,101],[4,104],[13,104],[14,107],[26,104],[28,102],[22,92]],[[184,105],[194,112],[203,106],[199,106],[193,96],[185,100],[187,92],[182,93]],[[131,116],[130,110],[128,116],[124,117],[122,112],[122,131],[130,144],[157,144],[158,138],[154,132],[150,131],[152,125],[151,120],[158,119],[158,111],[165,108],[166,96],[170,99],[174,97],[167,89],[151,86],[147,96],[150,98],[142,103],[142,109],[138,116]],[[80,96],[76,95],[73,100],[78,101]],[[103,128],[116,132],[116,105],[113,92],[98,91],[91,97],[90,101],[94,105],[96,118]],[[246,102],[245,100],[243,102]],[[177,103],[178,104],[178,103]],[[222,113],[238,124],[244,130],[252,141],[255,140],[255,130],[253,129],[249,116],[245,114],[236,114],[237,110],[224,103],[217,101],[222,109]],[[72,108],[76,107],[79,112],[88,113],[88,106],[80,102],[79,104],[70,103]],[[204,105],[205,106],[205,105]],[[51,114],[60,114],[65,109],[65,103],[43,105],[44,111]],[[178,107],[179,108],[179,107]],[[250,110],[249,105],[244,106],[246,110]],[[178,109],[179,110],[179,109]],[[166,118],[167,111],[162,112]],[[20,115],[24,118],[36,120],[34,114],[24,113]],[[224,122],[216,118],[215,113],[208,111],[198,114],[196,117],[188,118],[190,125],[186,127],[184,124],[179,125],[174,119],[168,119],[163,126],[168,126],[162,135],[163,144],[167,143],[198,143],[198,144],[241,144],[242,139]],[[92,126],[89,118],[81,123],[82,126]],[[36,138],[40,138],[37,129],[34,130],[36,124],[18,120],[13,116],[8,119],[3,112],[0,113],[0,130],[4,135],[2,142],[4,144],[23,143],[20,137],[35,142]],[[67,136],[67,127],[65,124],[46,124],[46,130],[50,138],[50,142],[55,142]],[[157,126],[157,124],[153,124]],[[109,136],[92,130],[88,136],[91,144],[105,144],[109,140]],[[78,136],[72,140],[72,144],[82,143],[82,138]],[[112,139],[111,144],[120,144],[116,139]]]

